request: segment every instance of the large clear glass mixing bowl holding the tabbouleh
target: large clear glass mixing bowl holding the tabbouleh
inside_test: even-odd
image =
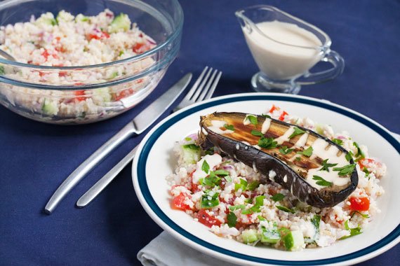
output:
[[[154,90],[180,48],[183,13],[177,0],[9,0],[0,25],[32,15],[125,13],[156,46],[139,55],[90,66],[37,66],[0,58],[0,103],[15,113],[52,124],[93,123],[119,115]]]

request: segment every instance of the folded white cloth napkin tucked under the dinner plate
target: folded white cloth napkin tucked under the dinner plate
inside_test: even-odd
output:
[[[138,253],[138,260],[145,266],[234,266],[196,251],[168,235],[167,232],[153,239]]]

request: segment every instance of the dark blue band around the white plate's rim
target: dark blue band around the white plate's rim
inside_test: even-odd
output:
[[[297,102],[297,103],[301,103],[301,104],[308,104],[308,105],[312,105],[312,106],[321,107],[324,109],[334,111],[336,113],[340,113],[349,118],[357,120],[360,123],[363,123],[367,127],[370,127],[371,130],[374,130],[375,132],[380,134],[381,137],[386,139],[389,142],[389,144],[392,144],[392,146],[396,149],[396,151],[400,153],[399,141],[396,141],[396,139],[394,139],[394,137],[391,134],[389,134],[387,131],[383,130],[378,125],[375,125],[375,123],[372,123],[371,120],[367,120],[366,118],[363,118],[363,117],[357,115],[356,113],[352,113],[352,112],[342,109],[338,106],[333,106],[331,104],[319,102],[318,100],[291,97],[288,95],[279,96],[279,95],[267,95],[267,94],[265,94],[265,95],[255,94],[255,95],[246,95],[246,96],[215,99],[211,102],[205,102],[204,104],[199,104],[197,106],[193,106],[192,108],[189,108],[186,111],[183,111],[182,113],[178,113],[178,115],[173,116],[172,118],[170,118],[168,120],[165,120],[165,122],[162,125],[160,125],[153,132],[153,134],[147,139],[146,143],[142,146],[143,148],[139,155],[138,167],[136,170],[137,176],[138,176],[138,184],[139,184],[140,191],[141,191],[145,201],[149,205],[149,208],[152,209],[154,214],[156,214],[156,216],[158,216],[164,223],[166,223],[166,225],[168,225],[168,227],[175,230],[175,232],[178,232],[183,237],[193,241],[196,244],[199,244],[200,246],[204,246],[205,248],[208,248],[212,251],[216,251],[218,253],[222,253],[224,255],[228,255],[228,256],[238,258],[241,260],[248,260],[251,262],[267,263],[267,264],[275,264],[275,265],[324,265],[324,264],[345,262],[347,260],[352,260],[352,259],[364,256],[364,255],[367,255],[368,253],[372,253],[373,251],[377,251],[378,249],[386,246],[387,244],[394,241],[394,239],[399,237],[400,224],[397,225],[397,227],[392,232],[390,232],[386,237],[384,237],[380,241],[376,242],[375,244],[372,244],[371,246],[363,248],[359,251],[349,253],[347,255],[342,255],[339,257],[327,258],[327,259],[322,259],[322,260],[302,260],[302,261],[272,260],[272,259],[267,259],[267,258],[258,258],[258,257],[254,257],[251,255],[244,255],[241,253],[236,253],[234,251],[229,251],[225,248],[221,248],[220,246],[215,246],[214,244],[210,244],[207,241],[204,241],[202,239],[199,239],[198,237],[195,237],[194,235],[190,234],[183,228],[180,228],[180,226],[177,225],[175,222],[173,222],[171,220],[171,218],[168,218],[168,216],[166,216],[166,214],[164,214],[164,212],[161,211],[161,209],[158,207],[158,205],[154,201],[154,198],[152,197],[152,195],[149,191],[149,187],[147,186],[147,182],[146,182],[145,166],[146,166],[149,152],[152,149],[156,140],[161,136],[161,134],[163,134],[163,132],[165,132],[169,127],[171,127],[171,125],[174,125],[175,123],[180,121],[182,118],[185,118],[186,116],[189,116],[190,114],[192,114],[196,111],[201,111],[202,109],[206,109],[208,107],[212,107],[212,106],[216,106],[216,105],[220,105],[220,104],[228,104],[231,102],[259,101],[259,100],[277,100],[277,101],[283,100],[286,102]]]

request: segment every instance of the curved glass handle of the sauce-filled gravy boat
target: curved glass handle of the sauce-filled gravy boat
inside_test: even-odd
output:
[[[338,52],[333,50],[327,52],[321,61],[329,62],[333,65],[333,67],[331,69],[316,73],[308,72],[299,79],[295,80],[295,83],[298,83],[299,85],[310,85],[332,80],[333,78],[339,76],[343,72],[343,69],[345,69],[345,59],[343,59]]]

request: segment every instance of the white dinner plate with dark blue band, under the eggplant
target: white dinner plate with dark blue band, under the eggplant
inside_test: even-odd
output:
[[[188,133],[199,130],[199,117],[214,111],[265,113],[276,104],[295,116],[307,116],[346,130],[354,141],[366,144],[372,157],[387,165],[381,185],[385,194],[378,200],[382,213],[375,216],[361,235],[338,241],[326,248],[300,252],[248,246],[209,232],[183,211],[171,209],[165,177],[174,169],[173,145]],[[182,109],[156,125],[143,139],[133,161],[133,186],[140,203],[152,219],[173,237],[222,260],[247,265],[349,265],[387,251],[400,241],[400,144],[384,127],[350,109],[310,97],[286,94],[234,94]]]

